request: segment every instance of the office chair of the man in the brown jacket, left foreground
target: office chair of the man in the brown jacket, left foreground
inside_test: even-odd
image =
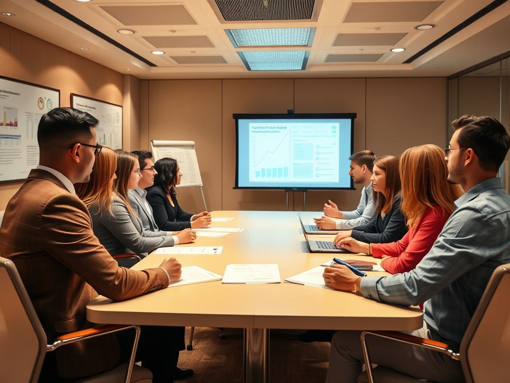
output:
[[[0,381],[37,383],[46,352],[66,344],[121,330],[136,331],[129,363],[113,370],[80,378],[75,383],[151,383],[152,373],[134,365],[139,326],[103,325],[65,334],[47,344],[46,334],[14,263],[0,257]]]

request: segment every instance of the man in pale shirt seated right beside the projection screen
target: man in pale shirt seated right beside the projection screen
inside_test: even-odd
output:
[[[372,181],[370,180],[375,154],[369,150],[363,150],[354,153],[349,157],[349,160],[351,161],[349,175],[352,177],[352,181],[363,185],[360,204],[353,211],[340,211],[334,202],[328,200],[329,203],[324,204],[324,216],[315,220],[315,224],[321,229],[350,230],[369,223],[375,217]]]

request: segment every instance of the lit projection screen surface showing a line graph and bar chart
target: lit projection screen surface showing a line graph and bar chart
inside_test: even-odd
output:
[[[238,119],[237,187],[351,188],[351,118]]]

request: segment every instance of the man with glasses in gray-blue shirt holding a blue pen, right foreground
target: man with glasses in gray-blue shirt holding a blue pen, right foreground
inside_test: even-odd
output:
[[[448,181],[465,194],[437,241],[415,270],[388,277],[356,277],[350,270],[326,268],[326,285],[361,292],[369,299],[416,305],[424,303],[423,328],[412,334],[446,343],[458,351],[487,283],[500,265],[510,262],[510,196],[497,178],[510,137],[492,117],[465,115],[455,130],[445,159]],[[435,382],[461,382],[459,361],[449,356],[386,339],[371,339],[371,362]],[[328,382],[356,382],[361,372],[360,331],[338,331],[331,343]]]

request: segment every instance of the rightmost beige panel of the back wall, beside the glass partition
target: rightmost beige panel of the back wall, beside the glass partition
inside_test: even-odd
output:
[[[446,145],[446,78],[367,79],[367,148],[398,157],[410,147]]]

